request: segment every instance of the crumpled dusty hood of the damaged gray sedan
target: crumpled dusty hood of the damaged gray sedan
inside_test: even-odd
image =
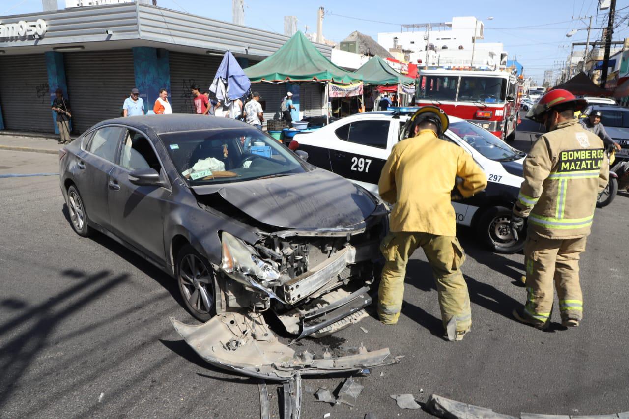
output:
[[[323,169],[192,189],[199,195],[220,194],[251,218],[280,228],[349,227],[376,209],[367,191]],[[204,202],[212,206],[211,199]]]

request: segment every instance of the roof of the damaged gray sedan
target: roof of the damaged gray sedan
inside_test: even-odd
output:
[[[127,118],[114,118],[112,120],[101,121],[94,125],[99,126],[121,123],[137,128],[140,131],[152,130],[156,134],[181,131],[196,130],[220,130],[228,128],[253,128],[251,125],[231,118],[220,118],[218,116],[192,115],[192,114],[172,114],[172,115],[140,115],[128,116]]]

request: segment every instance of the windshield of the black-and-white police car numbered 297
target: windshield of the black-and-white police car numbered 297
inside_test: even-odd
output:
[[[504,162],[517,160],[525,156],[525,153],[509,146],[491,132],[473,123],[467,121],[455,122],[450,124],[448,130],[458,135],[477,152],[487,157],[487,159]]]

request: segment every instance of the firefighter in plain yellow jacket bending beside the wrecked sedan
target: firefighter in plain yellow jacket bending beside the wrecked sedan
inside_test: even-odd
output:
[[[382,168],[379,193],[394,204],[391,232],[381,250],[386,262],[378,289],[378,316],[397,323],[404,298],[406,263],[421,247],[433,269],[443,326],[448,340],[462,340],[472,325],[467,284],[460,271],[465,254],[455,237],[450,195],[469,197],[487,186],[487,177],[461,147],[441,140],[448,117],[436,106],[423,106],[409,120],[411,137],[399,142]]]

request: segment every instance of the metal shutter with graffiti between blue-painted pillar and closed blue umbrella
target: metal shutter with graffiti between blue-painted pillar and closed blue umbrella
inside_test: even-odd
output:
[[[170,105],[173,113],[194,113],[190,86],[198,84],[201,92],[209,91],[223,57],[169,52]]]

